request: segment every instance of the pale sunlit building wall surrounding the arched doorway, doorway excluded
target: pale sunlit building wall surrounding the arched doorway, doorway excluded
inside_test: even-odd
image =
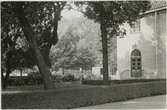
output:
[[[142,54],[144,78],[166,77],[166,11],[145,15],[140,27],[132,29],[128,24],[124,38],[117,39],[117,69],[121,79],[130,77],[130,54],[134,45]],[[138,30],[140,29],[140,30]],[[134,32],[135,30],[135,32]]]

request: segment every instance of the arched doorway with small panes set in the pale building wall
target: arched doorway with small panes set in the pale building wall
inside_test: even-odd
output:
[[[131,52],[131,77],[142,76],[142,60],[141,52],[138,49],[134,49]]]

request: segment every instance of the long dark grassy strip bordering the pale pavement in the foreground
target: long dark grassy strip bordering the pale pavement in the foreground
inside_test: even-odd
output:
[[[83,86],[83,85],[82,85]],[[3,109],[67,109],[166,94],[166,81],[2,94]]]

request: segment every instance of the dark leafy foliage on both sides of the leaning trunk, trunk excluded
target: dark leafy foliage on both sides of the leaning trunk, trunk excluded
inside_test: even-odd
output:
[[[34,52],[30,47],[31,44],[25,38],[19,20],[14,13],[17,3],[2,2],[2,60],[4,61],[3,64],[7,63],[8,65],[4,65],[4,67],[17,68],[19,65],[30,67],[30,65],[36,64]],[[44,57],[48,57],[47,54],[50,52],[51,45],[58,41],[58,21],[65,4],[66,2],[22,2],[26,18],[33,27]],[[20,58],[21,60],[19,60]],[[49,62],[49,59],[46,61]]]

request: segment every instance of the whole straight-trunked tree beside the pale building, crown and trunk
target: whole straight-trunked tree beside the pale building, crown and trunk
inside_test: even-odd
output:
[[[150,8],[149,1],[77,2],[79,10],[89,19],[100,24],[103,51],[103,80],[108,80],[107,36],[119,34],[119,26],[131,24],[140,18],[140,13]],[[83,9],[83,5],[84,8]]]

